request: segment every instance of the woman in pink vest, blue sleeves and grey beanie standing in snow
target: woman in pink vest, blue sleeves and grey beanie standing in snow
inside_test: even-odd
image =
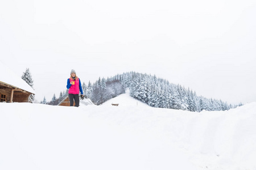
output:
[[[70,102],[70,106],[73,106],[74,103],[74,99],[75,99],[75,107],[79,107],[79,91],[81,92],[81,95],[83,95],[82,92],[82,86],[81,86],[81,81],[80,79],[76,76],[76,71],[75,70],[71,70],[71,76],[68,79],[67,82],[67,88],[68,90],[68,98],[69,98],[69,102]]]

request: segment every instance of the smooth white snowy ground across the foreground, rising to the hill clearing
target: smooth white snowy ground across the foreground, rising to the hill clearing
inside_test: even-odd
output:
[[[129,94],[79,108],[0,103],[0,169],[255,170],[255,111],[151,108]]]

